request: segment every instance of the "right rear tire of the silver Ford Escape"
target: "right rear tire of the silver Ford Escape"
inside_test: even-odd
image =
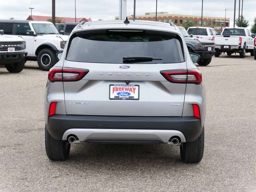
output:
[[[194,142],[185,142],[180,146],[180,157],[185,163],[198,163],[204,155],[204,128]]]

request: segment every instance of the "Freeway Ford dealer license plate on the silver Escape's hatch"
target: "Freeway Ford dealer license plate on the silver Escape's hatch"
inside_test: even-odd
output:
[[[109,99],[139,100],[139,85],[114,84],[109,85]]]

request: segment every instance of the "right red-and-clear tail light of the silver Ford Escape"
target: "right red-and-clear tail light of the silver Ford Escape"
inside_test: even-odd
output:
[[[202,83],[202,74],[198,69],[162,70],[160,74],[172,83]]]

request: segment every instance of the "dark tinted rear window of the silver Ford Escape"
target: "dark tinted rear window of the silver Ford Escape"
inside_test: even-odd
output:
[[[124,57],[140,60],[124,61]],[[152,57],[157,60],[143,59]],[[71,38],[67,60],[96,63],[184,62],[182,41],[172,33],[148,30],[94,30],[78,32]]]

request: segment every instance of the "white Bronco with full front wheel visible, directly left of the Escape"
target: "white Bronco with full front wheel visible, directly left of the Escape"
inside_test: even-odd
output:
[[[68,36],[60,35],[48,21],[0,20],[0,30],[21,36],[26,41],[26,60],[37,60],[42,70],[49,70],[56,64],[56,53],[63,51],[68,40]]]

